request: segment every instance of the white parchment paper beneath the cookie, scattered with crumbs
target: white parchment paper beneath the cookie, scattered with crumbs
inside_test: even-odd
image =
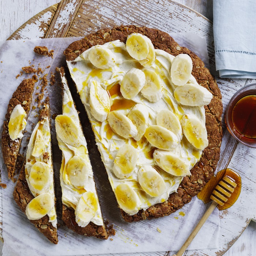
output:
[[[193,52],[201,57],[205,63],[208,63],[206,42],[195,34],[181,33],[172,34],[173,38],[180,46],[187,46]],[[16,79],[16,75],[22,71],[22,67],[34,64],[34,68],[40,67],[45,69],[44,74],[55,72],[56,67],[65,65],[65,57],[63,51],[67,46],[80,38],[51,38],[51,39],[36,39],[36,40],[16,40],[5,41],[0,46],[0,125],[3,128],[3,121],[7,105],[12,97],[12,93],[24,78],[29,78],[33,74],[23,74]],[[54,50],[54,57],[39,56],[33,52],[34,46],[47,46],[49,50]],[[46,68],[50,65],[50,68]],[[207,64],[206,64],[207,65]],[[23,72],[24,73],[24,72]],[[41,75],[42,77],[43,75]],[[51,115],[61,113],[61,89],[57,85],[60,82],[59,75],[56,74],[56,83],[47,86],[45,96],[50,96]],[[35,83],[34,94],[39,92],[36,89],[41,81]],[[39,86],[40,87],[40,86]],[[89,121],[86,117],[82,103],[75,93],[74,86],[71,87],[72,95],[80,110],[80,118],[86,139],[87,131],[91,132]],[[34,95],[34,99],[37,96]],[[37,106],[37,102],[33,101],[31,107]],[[22,149],[27,146],[29,136],[31,135],[33,123],[38,122],[38,108],[32,109],[29,114],[28,124],[26,127],[25,137],[22,141]],[[88,139],[90,140],[90,139]],[[105,219],[114,224],[116,236],[113,240],[99,240],[93,237],[79,236],[73,231],[67,229],[61,221],[61,191],[59,182],[59,169],[61,163],[61,151],[57,145],[56,133],[54,128],[54,120],[52,120],[52,146],[53,160],[55,170],[55,184],[57,192],[57,214],[59,244],[51,244],[32,223],[26,218],[25,214],[16,205],[12,193],[15,184],[8,180],[7,170],[3,163],[1,154],[1,175],[2,182],[7,184],[6,189],[1,189],[2,192],[2,212],[3,212],[3,238],[4,247],[3,255],[87,255],[100,253],[125,253],[125,252],[155,252],[178,250],[185,242],[197,221],[202,217],[203,213],[209,207],[204,205],[202,201],[194,197],[192,202],[186,204],[181,210],[169,216],[146,220],[140,222],[126,223],[121,217],[120,210],[117,207],[114,193],[109,185],[106,171],[101,164],[101,168],[96,168],[95,163],[100,162],[100,155],[95,146],[95,142],[91,140],[89,143],[94,147],[89,148],[90,159],[93,165],[94,177],[97,182],[97,189],[101,209]],[[26,151],[23,150],[23,151]],[[1,203],[1,202],[0,202]],[[185,212],[185,216],[179,215],[179,212]],[[178,217],[178,218],[177,218]],[[157,231],[161,230],[161,233]],[[189,249],[205,249],[217,248],[219,236],[219,216],[216,208],[200,230],[199,234],[193,240]]]

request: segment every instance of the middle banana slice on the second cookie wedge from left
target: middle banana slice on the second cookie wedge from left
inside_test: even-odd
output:
[[[29,174],[30,185],[37,191],[42,191],[50,185],[50,170],[46,163],[36,162]]]

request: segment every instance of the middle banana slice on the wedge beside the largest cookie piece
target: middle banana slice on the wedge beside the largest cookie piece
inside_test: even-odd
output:
[[[74,156],[68,161],[66,173],[75,188],[84,188],[89,175],[88,163],[83,158]]]

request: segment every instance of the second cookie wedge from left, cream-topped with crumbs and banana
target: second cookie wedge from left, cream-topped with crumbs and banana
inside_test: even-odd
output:
[[[30,222],[53,244],[57,244],[49,98],[46,98],[39,121],[31,134],[26,161],[20,171],[13,196]]]

